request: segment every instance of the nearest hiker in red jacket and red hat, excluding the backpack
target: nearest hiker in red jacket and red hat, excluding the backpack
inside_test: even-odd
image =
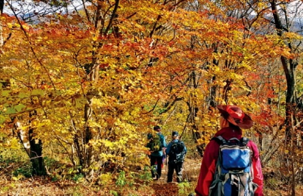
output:
[[[215,134],[215,137],[222,136],[225,140],[229,140],[231,138],[240,139],[242,137],[241,129],[249,129],[252,126],[251,118],[243,113],[240,108],[231,105],[218,105],[217,108],[221,113],[221,130]],[[197,196],[209,195],[210,185],[214,179],[216,162],[219,156],[219,146],[220,144],[215,140],[211,140],[206,146],[197,186],[195,188],[195,193]],[[259,151],[257,145],[251,140],[248,141],[247,146],[252,151],[251,170],[254,177],[252,182],[259,185],[254,193],[254,196],[263,196],[263,174],[261,170]]]

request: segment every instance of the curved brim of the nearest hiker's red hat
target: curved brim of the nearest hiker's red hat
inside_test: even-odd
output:
[[[241,129],[249,129],[250,127],[252,127],[252,124],[254,123],[251,118],[246,115],[244,113],[244,117],[243,117],[243,120],[241,123],[236,123],[234,118],[232,118],[228,112],[226,112],[226,107],[227,106],[224,106],[224,105],[218,105],[217,108],[219,110],[219,112],[221,113],[222,117],[224,119],[226,119],[228,122],[230,122],[231,124],[233,125],[236,125],[238,127],[240,127]]]

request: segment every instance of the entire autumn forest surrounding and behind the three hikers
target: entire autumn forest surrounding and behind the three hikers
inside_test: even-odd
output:
[[[187,195],[231,104],[254,120],[265,195],[301,195],[302,4],[1,0],[0,193],[157,195],[160,125],[187,146]]]

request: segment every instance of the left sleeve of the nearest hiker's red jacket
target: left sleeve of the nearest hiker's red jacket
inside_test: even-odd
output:
[[[206,146],[202,160],[197,186],[194,190],[197,196],[209,195],[209,187],[213,181],[218,155],[219,144],[216,141],[212,140]]]

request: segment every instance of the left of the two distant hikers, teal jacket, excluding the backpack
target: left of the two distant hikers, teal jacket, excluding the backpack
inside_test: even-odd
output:
[[[162,171],[161,165],[162,165],[162,158],[165,155],[166,141],[165,141],[165,137],[161,133],[160,126],[158,125],[155,126],[154,132],[157,132],[157,135],[160,137],[162,150],[150,152],[149,158],[150,158],[151,176],[153,177],[153,179],[158,180],[161,177],[161,171]],[[152,134],[147,135],[148,140],[152,139],[151,135]]]

